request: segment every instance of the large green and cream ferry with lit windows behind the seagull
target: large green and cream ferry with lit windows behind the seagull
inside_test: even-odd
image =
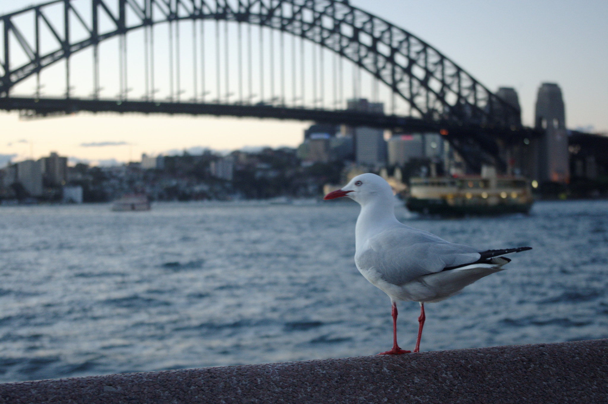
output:
[[[534,200],[521,176],[410,178],[406,207],[430,215],[499,215],[528,213]]]

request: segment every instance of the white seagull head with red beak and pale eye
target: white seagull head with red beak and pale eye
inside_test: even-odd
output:
[[[393,200],[393,190],[389,183],[379,175],[365,173],[350,180],[341,189],[328,193],[324,200],[348,197],[365,206],[375,200]]]

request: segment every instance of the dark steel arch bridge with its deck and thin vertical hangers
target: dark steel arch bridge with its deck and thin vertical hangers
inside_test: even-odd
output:
[[[451,61],[437,49],[430,46],[410,32],[348,4],[336,0],[85,0],[86,7],[75,6],[73,0],[56,0],[27,9],[0,16],[0,108],[5,110],[29,111],[26,114],[52,114],[72,111],[117,111],[142,113],[185,113],[214,114],[232,116],[274,117],[282,119],[316,120],[319,122],[368,125],[393,130],[435,130],[444,129],[451,143],[465,155],[469,164],[480,165],[480,161],[493,160],[502,165],[500,155],[504,145],[520,142],[524,137],[534,136],[534,131],[522,127],[520,111],[497,97],[488,88],[475,80],[468,72]],[[78,2],[78,4],[82,4]],[[86,9],[83,12],[82,9]],[[193,75],[190,78],[194,87],[193,97],[188,102],[180,99],[182,94],[180,66],[179,27],[185,21],[192,21]],[[219,21],[226,24],[224,33],[225,52],[220,51]],[[197,69],[204,71],[209,62],[205,50],[196,49],[204,45],[205,23],[215,23],[215,43],[217,74],[215,80],[216,98],[206,102],[206,76],[203,72],[198,78]],[[228,23],[238,26],[238,74],[229,79],[234,66],[229,61]],[[197,37],[196,24],[200,34]],[[164,100],[155,98],[155,60],[154,29],[168,26],[169,90]],[[241,40],[241,26],[249,29],[249,42]],[[260,94],[252,93],[251,77],[251,35],[250,27],[260,29],[259,62]],[[271,35],[270,50],[264,58],[263,29]],[[140,99],[128,97],[127,34],[143,30],[143,66],[138,75],[143,79]],[[76,35],[78,32],[78,35]],[[277,66],[274,50],[278,43],[272,39],[272,32],[279,32],[280,68]],[[157,32],[156,32],[157,33]],[[283,34],[291,34],[294,46],[291,49],[292,91],[285,90],[286,59],[283,53]],[[209,35],[208,35],[209,36]],[[112,39],[119,40],[119,91],[117,96],[100,97],[100,56],[99,47]],[[300,55],[297,55],[295,38],[299,38]],[[304,43],[316,46],[306,53]],[[45,43],[46,45],[44,45]],[[268,47],[268,44],[267,44]],[[71,60],[79,52],[92,49],[91,94],[75,97],[72,75],[74,68]],[[130,46],[130,49],[134,49]],[[314,50],[321,49],[321,50]],[[249,52],[249,66],[243,62],[244,54]],[[333,60],[333,95],[331,108],[325,106],[323,55],[329,52]],[[208,53],[208,51],[207,51]],[[183,55],[183,54],[182,54]],[[224,68],[220,72],[221,57],[225,56]],[[296,61],[296,57],[300,60]],[[337,61],[336,59],[337,58]],[[232,58],[235,59],[234,57]],[[268,61],[268,59],[270,61]],[[305,63],[313,61],[312,71]],[[376,85],[375,97],[378,99],[378,85],[387,92],[384,101],[390,105],[391,114],[371,114],[344,108],[342,83],[336,84],[338,75],[344,76],[342,61],[356,66],[357,72],[351,74],[353,96],[361,97],[361,72],[365,72]],[[61,97],[41,96],[41,74],[58,62],[64,62],[65,91]],[[198,66],[197,63],[199,62]],[[300,66],[297,66],[300,64]],[[320,67],[319,67],[320,64]],[[243,69],[243,65],[244,69]],[[336,66],[340,66],[337,70]],[[247,69],[248,68],[248,69]],[[296,88],[296,76],[301,77],[301,91]],[[103,69],[102,69],[103,70]],[[209,68],[207,69],[209,70]],[[245,70],[245,74],[243,73]],[[280,70],[280,79],[277,71]],[[133,75],[131,69],[131,75]],[[269,71],[269,72],[268,72]],[[243,75],[249,75],[248,80]],[[330,75],[330,74],[327,74]],[[238,79],[235,78],[238,76]],[[16,96],[15,89],[20,83],[35,78],[33,96]],[[225,80],[224,83],[221,83]],[[342,77],[337,80],[343,80]],[[359,80],[357,82],[357,80]],[[132,82],[133,80],[131,80]],[[207,78],[207,81],[209,79]],[[234,83],[235,81],[238,84]],[[249,96],[243,96],[244,82],[249,86]],[[329,81],[329,80],[328,80]],[[270,83],[268,83],[270,82]],[[280,83],[278,83],[280,82]],[[356,82],[356,83],[355,83]],[[201,88],[202,84],[202,88]],[[256,83],[258,84],[258,83]],[[221,85],[224,88],[221,88]],[[270,88],[269,88],[270,86]],[[275,91],[280,87],[281,91]],[[312,91],[310,91],[312,88]],[[339,88],[339,91],[337,90]],[[233,92],[231,92],[231,89]],[[309,94],[306,101],[305,91]],[[225,91],[225,96],[223,95]],[[270,96],[264,97],[264,91]],[[374,90],[372,90],[373,92]],[[238,99],[230,100],[238,92]],[[287,94],[289,92],[289,94]],[[289,102],[290,99],[292,102]],[[312,96],[312,99],[310,98]],[[371,98],[371,97],[370,97]],[[299,100],[297,102],[297,100]],[[395,106],[405,102],[409,106],[406,114],[396,113]],[[477,155],[477,157],[475,157]],[[483,156],[480,156],[483,155]]]

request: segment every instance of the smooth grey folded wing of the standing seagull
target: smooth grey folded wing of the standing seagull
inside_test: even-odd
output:
[[[355,261],[359,268],[374,268],[382,279],[402,285],[447,266],[463,265],[479,258],[478,250],[473,247],[450,243],[429,232],[404,226],[371,237]]]

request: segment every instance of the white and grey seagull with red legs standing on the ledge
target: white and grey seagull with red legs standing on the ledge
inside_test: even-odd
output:
[[[393,316],[393,349],[378,355],[410,353],[397,344],[396,301],[420,303],[418,338],[413,352],[420,352],[424,303],[439,302],[489,274],[504,270],[510,259],[502,257],[531,247],[478,248],[454,244],[429,232],[406,226],[395,217],[393,191],[381,176],[366,173],[324,200],[347,197],[361,205],[355,227],[354,263],[372,285],[389,295]]]

